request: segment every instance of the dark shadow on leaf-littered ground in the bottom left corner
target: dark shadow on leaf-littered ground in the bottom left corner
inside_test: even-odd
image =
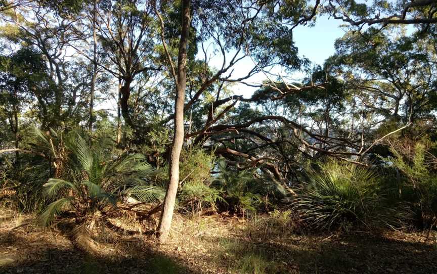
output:
[[[130,244],[132,245],[132,242]],[[129,242],[118,242],[117,245],[129,245]],[[79,251],[72,246],[36,245],[14,234],[0,234],[0,250],[6,250],[6,254],[8,250],[15,250],[17,254],[4,256],[0,253],[0,261],[3,258],[6,264],[0,263],[0,273],[5,274],[198,273],[183,265],[180,259],[170,258],[147,247],[142,248],[141,252],[138,252],[139,255],[102,257]]]

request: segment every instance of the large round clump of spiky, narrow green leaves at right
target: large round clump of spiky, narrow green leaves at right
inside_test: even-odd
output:
[[[314,229],[368,229],[397,226],[408,218],[408,208],[387,204],[377,174],[352,163],[328,161],[312,171],[312,181],[296,191],[294,208]]]

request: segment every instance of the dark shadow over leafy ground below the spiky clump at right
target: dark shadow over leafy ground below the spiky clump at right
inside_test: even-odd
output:
[[[356,235],[331,241],[315,237],[282,243],[205,237],[221,246],[237,273],[437,273],[437,248],[423,243]]]

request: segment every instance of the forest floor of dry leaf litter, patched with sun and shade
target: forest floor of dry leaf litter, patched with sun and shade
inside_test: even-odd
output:
[[[437,245],[425,244],[422,233],[284,232],[261,239],[248,225],[224,215],[177,214],[165,245],[117,233],[90,253],[61,231],[38,226],[33,215],[2,210],[0,273],[437,273]]]

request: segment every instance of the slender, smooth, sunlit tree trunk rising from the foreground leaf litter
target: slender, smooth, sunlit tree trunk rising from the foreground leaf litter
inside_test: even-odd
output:
[[[174,104],[174,138],[169,161],[169,182],[164,198],[161,219],[159,220],[157,237],[160,243],[165,243],[170,231],[174,203],[179,186],[179,158],[184,143],[184,103],[187,86],[187,41],[190,28],[190,0],[182,2],[182,32],[179,41],[178,74],[176,83],[176,102]]]

